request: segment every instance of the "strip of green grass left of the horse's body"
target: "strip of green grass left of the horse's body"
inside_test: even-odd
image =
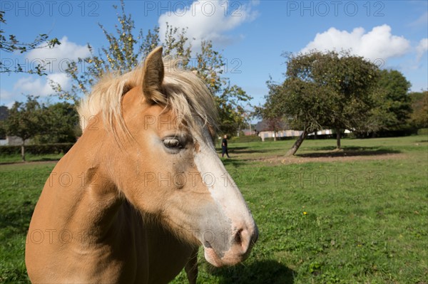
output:
[[[51,164],[0,165],[0,283],[29,283],[26,231]]]

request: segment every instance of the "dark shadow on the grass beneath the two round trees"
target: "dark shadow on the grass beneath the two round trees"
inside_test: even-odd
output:
[[[315,151],[305,154],[296,154],[297,157],[319,158],[319,157],[357,157],[357,156],[377,156],[384,154],[399,154],[398,150],[379,149],[377,147],[343,147],[340,150],[335,147],[312,148]]]

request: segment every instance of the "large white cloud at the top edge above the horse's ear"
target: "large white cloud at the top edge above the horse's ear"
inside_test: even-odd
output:
[[[225,33],[242,23],[253,21],[258,16],[258,11],[254,11],[256,5],[258,1],[193,1],[190,6],[166,12],[159,17],[161,40],[168,22],[173,27],[188,28],[187,36],[195,43],[193,46],[198,45],[201,40],[227,45],[237,36]]]

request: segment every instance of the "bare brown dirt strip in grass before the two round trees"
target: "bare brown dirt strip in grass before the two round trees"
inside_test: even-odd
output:
[[[402,153],[377,154],[377,155],[370,155],[370,156],[364,156],[364,155],[347,156],[347,154],[344,153],[341,156],[332,154],[331,156],[323,155],[322,157],[275,156],[275,157],[266,157],[262,159],[251,159],[251,161],[265,162],[267,164],[303,164],[308,162],[353,162],[353,161],[384,160],[384,159],[405,159],[406,157],[407,155]]]

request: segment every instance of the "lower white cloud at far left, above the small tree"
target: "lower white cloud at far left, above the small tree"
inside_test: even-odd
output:
[[[21,78],[15,83],[14,90],[26,95],[40,95],[46,97],[54,94],[54,90],[49,83],[51,80],[60,84],[61,88],[64,90],[70,88],[70,78],[67,77],[66,73],[52,73],[47,75],[46,78]]]

